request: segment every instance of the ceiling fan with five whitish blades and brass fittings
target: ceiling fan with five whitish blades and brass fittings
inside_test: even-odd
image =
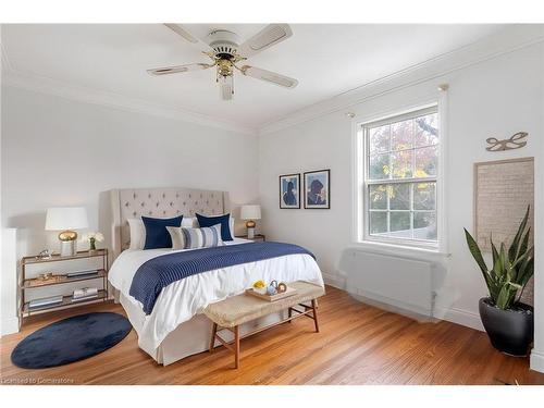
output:
[[[217,67],[217,82],[220,86],[220,94],[223,100],[230,100],[234,95],[234,70],[239,71],[245,76],[265,81],[285,88],[294,88],[298,81],[288,76],[276,74],[275,72],[261,70],[251,65],[238,66],[238,63],[248,58],[280,44],[293,35],[288,24],[270,24],[254,35],[248,40],[242,42],[240,38],[226,29],[215,29],[208,34],[207,41],[202,41],[190,34],[181,24],[164,24],[174,33],[180,35],[193,47],[200,50],[211,59],[211,63],[197,62],[194,64],[175,65],[147,70],[151,75],[169,75],[180,72],[208,70]]]

